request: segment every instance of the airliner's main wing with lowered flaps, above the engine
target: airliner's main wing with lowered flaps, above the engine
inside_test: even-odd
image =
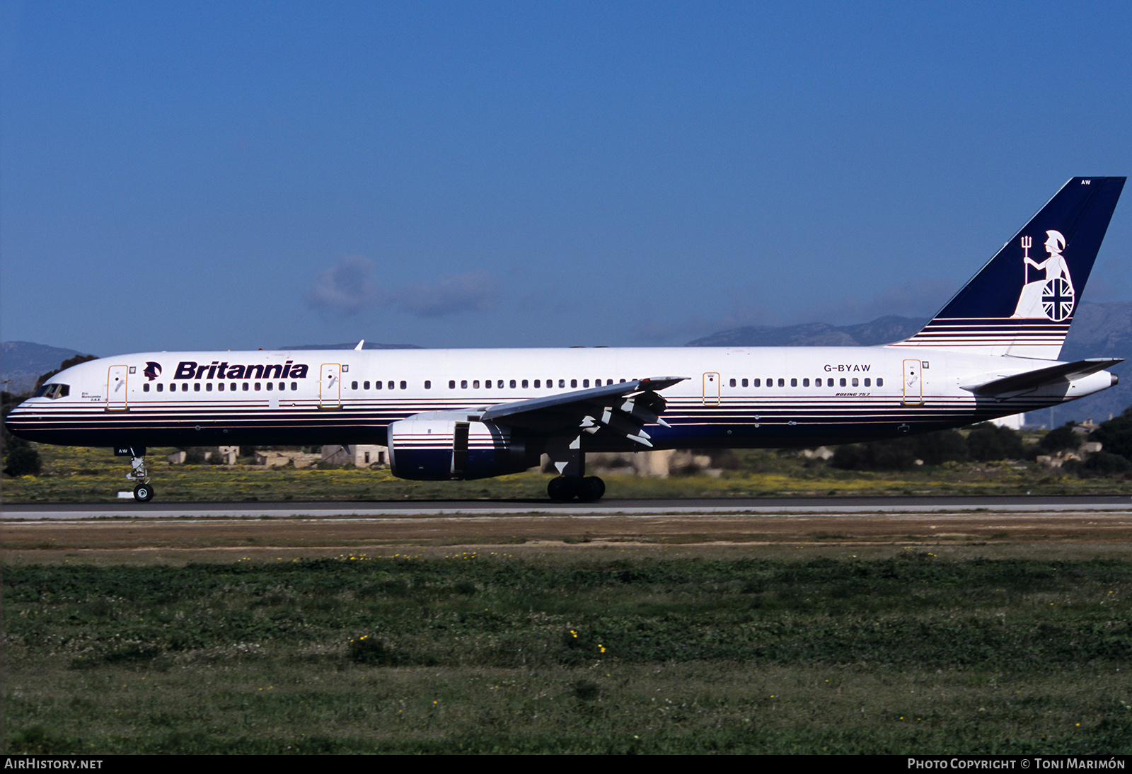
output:
[[[480,411],[479,421],[505,421],[507,424],[540,432],[612,432],[652,447],[644,425],[669,427],[660,419],[667,404],[657,390],[671,387],[688,377],[633,379],[591,389],[558,393],[547,397],[498,403]]]

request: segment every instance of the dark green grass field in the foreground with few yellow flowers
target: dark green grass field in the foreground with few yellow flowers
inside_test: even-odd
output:
[[[1123,550],[435,550],[3,584],[9,752],[1132,748]]]

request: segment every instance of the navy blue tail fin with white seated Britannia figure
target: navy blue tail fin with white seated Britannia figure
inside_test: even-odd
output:
[[[923,330],[895,346],[1057,360],[1126,178],[1073,178]]]

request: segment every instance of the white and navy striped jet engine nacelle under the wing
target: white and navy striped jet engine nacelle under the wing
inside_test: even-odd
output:
[[[388,446],[393,475],[414,481],[522,473],[539,464],[540,454],[540,449],[529,452],[525,440],[506,425],[443,412],[393,422]]]

